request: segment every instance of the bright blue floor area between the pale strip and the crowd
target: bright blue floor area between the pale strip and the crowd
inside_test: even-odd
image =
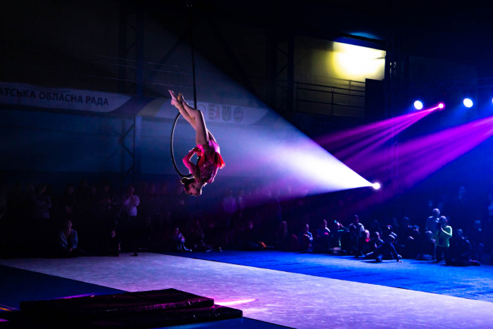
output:
[[[444,261],[412,259],[375,263],[353,256],[278,251],[170,255],[493,302],[493,266],[489,265],[452,267]]]

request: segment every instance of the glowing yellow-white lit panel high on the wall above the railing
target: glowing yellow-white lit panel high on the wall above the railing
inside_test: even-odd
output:
[[[385,76],[385,51],[334,42],[328,55],[331,73],[340,79],[382,80]]]

